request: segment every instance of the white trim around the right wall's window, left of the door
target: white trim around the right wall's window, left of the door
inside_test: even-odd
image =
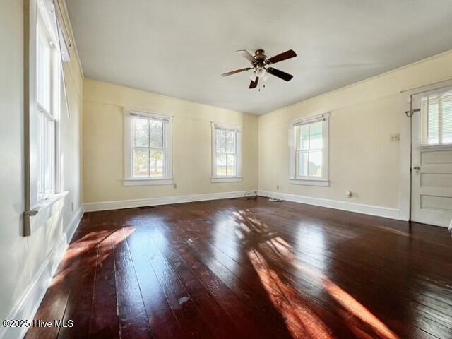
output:
[[[290,149],[290,177],[289,177],[289,182],[290,184],[295,184],[295,185],[306,185],[306,186],[325,186],[328,187],[330,186],[330,181],[329,181],[329,177],[328,177],[328,150],[329,150],[329,143],[328,143],[328,139],[329,139],[329,117],[330,114],[329,113],[325,113],[325,114],[320,114],[320,115],[316,115],[314,117],[308,117],[308,118],[302,118],[302,119],[297,119],[297,120],[293,120],[290,121],[289,124],[289,149]],[[295,155],[296,153],[296,145],[297,145],[297,141],[296,141],[296,135],[295,135],[295,127],[296,126],[301,126],[304,124],[312,124],[316,121],[324,121],[323,123],[323,142],[324,142],[324,146],[323,146],[323,177],[308,177],[308,176],[297,176],[296,173],[296,161],[297,161],[297,157]]]

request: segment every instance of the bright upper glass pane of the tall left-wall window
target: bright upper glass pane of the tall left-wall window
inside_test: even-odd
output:
[[[50,46],[46,35],[38,26],[37,34],[37,102],[50,112]]]

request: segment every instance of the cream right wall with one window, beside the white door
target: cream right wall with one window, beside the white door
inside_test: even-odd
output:
[[[409,93],[403,90],[452,78],[452,51],[259,117],[260,191],[349,201],[408,213]],[[309,84],[307,84],[309,85]],[[289,179],[289,121],[331,112],[330,187]],[[390,142],[400,133],[400,142]],[[345,192],[351,190],[352,198]]]

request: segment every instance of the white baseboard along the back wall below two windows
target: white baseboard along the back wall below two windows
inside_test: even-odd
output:
[[[256,190],[250,191],[254,192]],[[241,198],[245,196],[246,192],[247,191],[235,191],[222,193],[190,194],[188,196],[168,196],[165,198],[100,201],[98,203],[85,203],[85,212],[94,212],[96,210],[119,210],[121,208],[168,205],[170,203],[191,203],[194,201]]]

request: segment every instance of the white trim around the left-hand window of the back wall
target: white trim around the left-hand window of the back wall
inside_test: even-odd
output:
[[[165,124],[165,175],[163,177],[144,177],[134,178],[133,160],[132,160],[132,130],[131,114],[142,117],[161,119],[167,121]],[[124,186],[154,186],[154,185],[172,185],[174,178],[172,176],[172,116],[154,112],[146,112],[138,109],[124,108]]]

